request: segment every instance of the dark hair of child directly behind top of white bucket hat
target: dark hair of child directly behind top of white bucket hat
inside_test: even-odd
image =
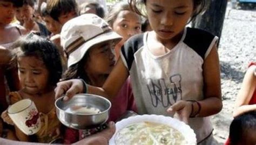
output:
[[[83,13],[81,13],[82,9],[85,9],[87,7],[93,6],[96,9],[96,15],[99,16],[100,18],[104,18],[105,17],[105,11],[102,5],[100,5],[99,3],[96,2],[89,2],[89,3],[83,3],[80,6],[80,15],[82,15]]]

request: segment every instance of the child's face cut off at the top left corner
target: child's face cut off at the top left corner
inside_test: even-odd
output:
[[[10,24],[14,19],[15,7],[11,2],[0,1],[0,24]]]

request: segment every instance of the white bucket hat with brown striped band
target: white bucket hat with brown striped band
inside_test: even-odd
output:
[[[122,37],[114,32],[104,19],[86,13],[66,22],[60,33],[60,43],[68,56],[68,67],[78,63],[93,45]]]

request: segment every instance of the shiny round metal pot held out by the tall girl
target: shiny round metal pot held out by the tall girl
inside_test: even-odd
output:
[[[90,129],[103,125],[109,118],[111,102],[93,94],[77,94],[68,101],[64,96],[55,101],[56,114],[60,122],[74,129]],[[76,112],[72,108],[86,107],[99,112]]]

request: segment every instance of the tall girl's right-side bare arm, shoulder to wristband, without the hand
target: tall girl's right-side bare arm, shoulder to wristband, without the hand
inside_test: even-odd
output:
[[[220,66],[217,45],[214,45],[208,54],[203,65],[204,75],[204,100],[199,101],[201,111],[198,116],[210,116],[221,111],[223,104],[221,99],[220,87]],[[198,110],[198,106],[194,105]]]

